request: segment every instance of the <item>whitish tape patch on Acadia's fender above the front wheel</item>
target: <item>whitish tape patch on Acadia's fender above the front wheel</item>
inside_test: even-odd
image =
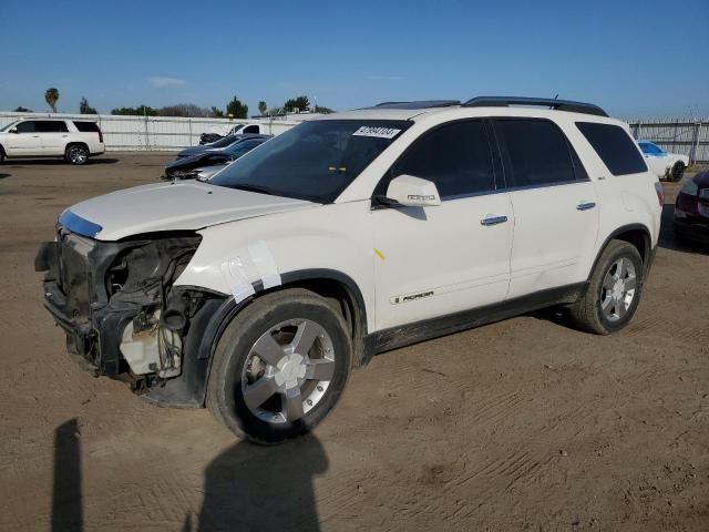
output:
[[[246,249],[237,249],[235,256],[222,263],[219,268],[236,303],[256,293],[249,279],[260,278],[265,290],[281,284],[274,256],[263,241],[249,244]]]

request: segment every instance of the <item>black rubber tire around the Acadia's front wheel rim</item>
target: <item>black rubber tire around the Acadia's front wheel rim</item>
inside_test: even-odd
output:
[[[329,335],[335,351],[333,375],[325,393],[300,419],[268,422],[257,417],[244,399],[245,365],[265,332],[300,318],[315,321]],[[237,314],[219,338],[207,385],[207,407],[237,436],[261,444],[279,443],[309,432],[332,410],[345,390],[351,360],[352,340],[347,324],[326,299],[301,288],[267,294]],[[269,400],[279,397],[276,393]]]

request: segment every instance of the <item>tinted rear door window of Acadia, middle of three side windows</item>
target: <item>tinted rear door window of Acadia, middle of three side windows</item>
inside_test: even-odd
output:
[[[566,136],[552,121],[499,119],[495,131],[507,186],[549,186],[588,178]]]

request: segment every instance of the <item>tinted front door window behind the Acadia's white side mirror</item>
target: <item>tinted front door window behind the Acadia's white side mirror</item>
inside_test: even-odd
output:
[[[443,200],[494,191],[485,123],[454,122],[423,133],[394,163],[390,178],[378,186],[378,193],[384,194],[391,178],[402,174],[432,181]]]

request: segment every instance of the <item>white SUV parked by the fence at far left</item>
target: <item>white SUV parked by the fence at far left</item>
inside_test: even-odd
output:
[[[103,133],[92,121],[31,119],[0,129],[0,163],[6,157],[64,157],[84,164],[104,151]]]

